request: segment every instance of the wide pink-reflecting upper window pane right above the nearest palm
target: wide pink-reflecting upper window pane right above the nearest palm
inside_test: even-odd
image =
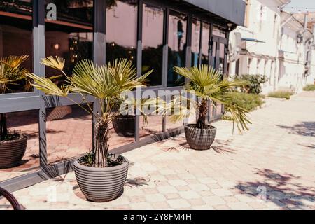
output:
[[[136,64],[137,1],[120,0],[106,6],[106,61],[128,58]]]

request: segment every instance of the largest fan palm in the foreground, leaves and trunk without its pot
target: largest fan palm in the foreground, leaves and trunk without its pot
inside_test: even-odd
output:
[[[81,106],[82,102],[74,102],[82,109],[94,116],[94,146],[90,154],[87,166],[108,167],[112,163],[109,153],[109,125],[113,118],[118,116],[117,102],[124,92],[132,91],[137,87],[144,87],[144,80],[152,72],[148,71],[141,78],[137,78],[137,70],[132,62],[127,59],[116,59],[106,65],[97,66],[90,60],[83,60],[76,64],[73,75],[68,76],[64,72],[64,59],[60,57],[47,57],[41,60],[45,66],[57,69],[66,78],[64,85],[58,87],[49,78],[43,78],[31,73],[29,78],[34,80],[34,87],[38,90],[59,97],[69,97],[69,93],[81,95],[86,107]],[[96,98],[99,113],[94,113],[90,104],[87,103],[87,95]]]

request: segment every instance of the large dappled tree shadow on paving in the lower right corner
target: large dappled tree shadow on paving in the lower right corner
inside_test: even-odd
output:
[[[309,204],[315,205],[315,187],[297,183],[300,176],[279,174],[271,169],[256,170],[255,174],[263,181],[239,181],[236,188],[241,193],[260,197],[265,190],[265,199],[283,209],[307,209]]]

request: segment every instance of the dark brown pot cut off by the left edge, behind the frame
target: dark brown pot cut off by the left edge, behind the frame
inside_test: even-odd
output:
[[[26,147],[27,137],[0,141],[0,169],[18,166],[25,155]]]

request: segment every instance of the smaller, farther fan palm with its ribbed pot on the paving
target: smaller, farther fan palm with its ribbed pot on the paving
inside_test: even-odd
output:
[[[223,104],[225,111],[231,114],[233,124],[237,124],[239,132],[248,130],[247,125],[251,123],[246,116],[248,111],[233,104],[230,94],[235,87],[244,85],[244,82],[222,80],[221,74],[207,65],[194,66],[190,69],[174,67],[174,71],[188,78],[185,89],[191,94],[195,94],[198,99],[197,102],[191,104],[197,108],[197,123],[185,127],[186,139],[191,148],[206,150],[211,148],[211,144],[214,142],[216,127],[207,123],[209,103],[214,106],[216,106],[215,102]],[[172,116],[172,121],[176,122],[189,116],[190,113],[186,112],[187,110],[183,110],[183,113]]]

